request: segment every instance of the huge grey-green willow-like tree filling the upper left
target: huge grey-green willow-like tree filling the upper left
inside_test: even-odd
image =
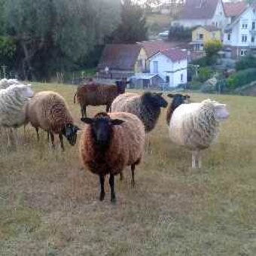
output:
[[[5,33],[17,41],[23,78],[74,67],[116,28],[119,10],[118,0],[5,1]]]

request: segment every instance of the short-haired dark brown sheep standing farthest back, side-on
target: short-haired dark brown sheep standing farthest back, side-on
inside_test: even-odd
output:
[[[81,106],[81,117],[87,117],[87,105],[106,105],[108,112],[114,98],[125,92],[126,84],[128,84],[126,79],[116,81],[116,85],[96,84],[90,79],[89,83],[78,87],[74,95],[74,103],[77,98]]]

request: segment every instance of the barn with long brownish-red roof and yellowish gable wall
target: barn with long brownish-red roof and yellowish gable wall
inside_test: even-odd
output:
[[[145,72],[147,58],[142,45],[107,44],[97,66],[98,78],[128,78]]]

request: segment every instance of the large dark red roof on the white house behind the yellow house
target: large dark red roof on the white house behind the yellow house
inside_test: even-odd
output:
[[[179,20],[211,19],[215,14],[218,0],[187,0]]]

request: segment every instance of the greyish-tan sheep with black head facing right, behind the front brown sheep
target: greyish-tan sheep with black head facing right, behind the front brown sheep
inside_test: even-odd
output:
[[[123,111],[135,114],[142,120],[145,132],[149,133],[154,129],[160,116],[160,108],[166,108],[168,103],[162,97],[162,93],[145,92],[123,93],[114,99],[111,110],[114,112]]]

